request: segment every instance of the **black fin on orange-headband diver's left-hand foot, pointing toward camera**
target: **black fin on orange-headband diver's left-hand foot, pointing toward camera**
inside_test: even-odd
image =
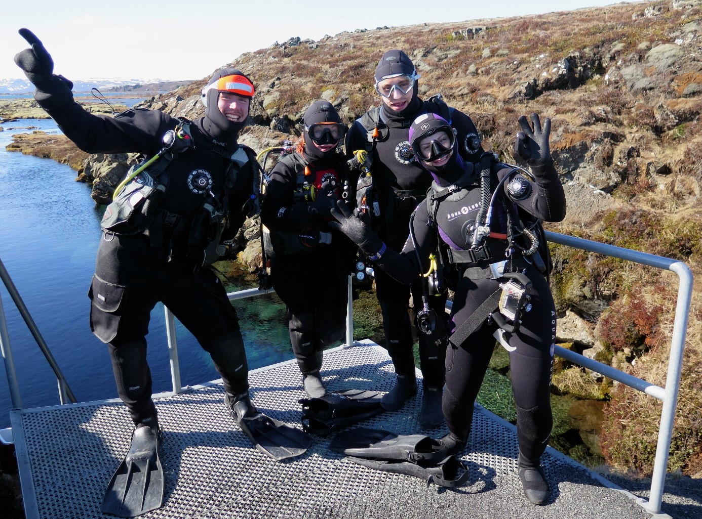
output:
[[[159,459],[160,444],[158,426],[134,430],[129,450],[107,485],[102,512],[136,517],[161,507],[165,478]]]

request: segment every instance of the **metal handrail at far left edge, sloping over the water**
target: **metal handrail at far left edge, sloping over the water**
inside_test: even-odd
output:
[[[56,363],[56,360],[53,358],[51,351],[48,349],[46,341],[44,341],[44,337],[41,337],[41,333],[39,332],[39,328],[37,328],[37,324],[34,323],[32,315],[29,314],[29,310],[27,309],[25,302],[22,301],[22,297],[20,297],[20,292],[18,292],[17,287],[15,287],[15,283],[13,283],[12,278],[10,277],[10,274],[5,268],[5,265],[3,264],[2,260],[0,260],[0,278],[5,284],[5,288],[7,288],[7,291],[10,294],[10,297],[12,297],[13,302],[15,302],[15,306],[17,306],[20,315],[25,320],[25,323],[27,323],[27,328],[29,328],[29,331],[32,332],[32,336],[37,342],[37,346],[39,346],[39,349],[41,349],[41,353],[44,353],[44,358],[46,358],[48,365],[51,366],[51,370],[53,370],[53,374],[56,376],[56,382],[58,384],[58,398],[60,402],[62,404],[65,404],[66,400],[69,400],[71,403],[76,403],[77,400],[76,397],[73,395],[73,391],[71,391],[71,388],[68,385],[68,382],[66,382],[66,379],[63,376],[61,369],[58,367],[58,363]],[[12,349],[10,346],[10,336],[7,331],[5,312],[2,309],[1,299],[0,349],[2,350],[2,356],[5,361],[5,370],[7,372],[8,385],[10,386],[10,397],[12,399],[12,407],[13,409],[22,409],[22,397],[20,395],[20,386],[17,379],[17,373],[15,372],[15,363],[13,361]]]

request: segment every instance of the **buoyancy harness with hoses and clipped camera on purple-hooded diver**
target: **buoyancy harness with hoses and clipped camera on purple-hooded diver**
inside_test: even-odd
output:
[[[517,173],[530,174],[519,166],[505,165],[511,170],[497,183],[495,189],[491,189],[491,177],[494,177],[491,171],[495,163],[497,163],[496,156],[492,153],[484,153],[479,162],[481,193],[472,245],[464,250],[454,250],[439,236],[439,250],[435,259],[430,260],[430,270],[424,274],[424,277],[428,278],[430,293],[445,290],[446,285],[442,276],[446,270],[451,276],[453,276],[452,272],[456,272],[461,276],[473,279],[505,280],[449,337],[449,342],[454,347],[462,344],[486,319],[493,320],[502,330],[496,332],[496,338],[504,346],[506,342],[504,342],[503,333],[517,331],[522,323],[524,312],[531,310],[531,281],[524,275],[524,267],[526,264],[534,264],[536,269],[547,278],[549,274],[549,269],[543,260],[543,257],[547,258],[550,266],[550,256],[548,255],[548,246],[545,245],[541,220],[532,218],[525,224],[517,205],[504,194],[503,190],[503,184],[514,179]],[[517,177],[517,179],[524,180],[522,177]],[[465,185],[460,184],[439,187],[433,183],[429,189],[426,198],[429,215],[427,224],[435,228],[437,234],[439,234],[437,213],[440,203],[465,187]],[[508,189],[508,193],[512,196],[511,189]],[[521,194],[515,196],[523,195],[522,191]],[[492,210],[496,202],[500,203],[507,216],[506,234],[491,231]],[[413,233],[412,227],[410,227],[410,232]],[[488,240],[487,238],[493,239]],[[504,251],[503,254],[501,250]],[[539,252],[540,250],[542,252]],[[446,267],[449,268],[446,269]]]

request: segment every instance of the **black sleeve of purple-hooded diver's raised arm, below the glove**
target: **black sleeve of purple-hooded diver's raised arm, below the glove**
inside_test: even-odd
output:
[[[504,164],[500,164],[498,167],[501,167],[497,173],[499,179],[508,175],[512,170]],[[519,208],[527,211],[530,215],[545,222],[560,222],[566,215],[566,196],[558,179],[553,160],[549,160],[544,166],[532,167],[531,173],[536,178],[535,182],[527,180],[524,175],[518,176],[519,182],[527,182],[529,185],[529,187],[523,188],[527,191],[525,194],[515,196],[515,189],[511,189],[510,192],[512,180],[505,181],[503,187],[505,194]]]

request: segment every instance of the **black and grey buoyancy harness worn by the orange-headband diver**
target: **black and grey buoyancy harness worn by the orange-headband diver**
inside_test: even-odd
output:
[[[161,150],[150,159],[132,166],[124,180],[117,185],[112,203],[107,206],[102,217],[101,227],[106,234],[145,234],[149,236],[152,248],[166,247],[169,260],[173,237],[187,232],[187,256],[196,267],[206,267],[216,262],[226,251],[225,245],[220,244],[220,239],[229,224],[229,194],[239,171],[247,162],[252,163],[254,172],[253,194],[247,201],[249,215],[258,213],[258,163],[253,150],[246,146],[239,145],[233,154],[214,146],[208,147],[230,161],[225,172],[225,188],[221,200],[212,191],[205,189],[201,206],[191,220],[162,209],[161,203],[171,182],[168,166],[180,154],[195,147],[190,130],[192,122],[183,117],[179,117],[178,121],[175,129],[164,134]]]

